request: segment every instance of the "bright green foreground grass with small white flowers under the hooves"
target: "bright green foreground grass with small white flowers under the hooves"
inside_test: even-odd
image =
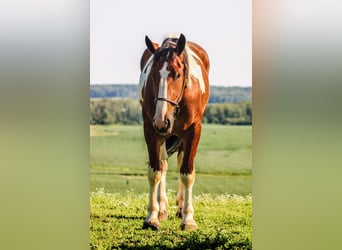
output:
[[[168,193],[175,204],[175,191]],[[198,230],[179,229],[176,206],[158,231],[142,230],[147,194],[105,193],[90,196],[91,249],[252,249],[252,198],[237,195],[195,196],[193,205]]]

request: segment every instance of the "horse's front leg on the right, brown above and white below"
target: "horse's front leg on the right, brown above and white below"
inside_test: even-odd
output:
[[[187,133],[184,141],[184,157],[180,168],[180,179],[184,186],[181,229],[190,231],[197,229],[192,206],[192,187],[195,183],[194,159],[201,135],[201,124],[194,124]]]

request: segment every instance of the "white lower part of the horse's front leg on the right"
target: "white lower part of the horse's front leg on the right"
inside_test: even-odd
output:
[[[181,174],[180,178],[185,189],[181,229],[196,230],[197,224],[194,220],[194,208],[192,206],[192,186],[195,183],[195,171],[193,171],[192,174]]]

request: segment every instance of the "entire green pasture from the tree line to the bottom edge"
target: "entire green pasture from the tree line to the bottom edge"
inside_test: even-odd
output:
[[[176,155],[167,175],[169,218],[142,230],[147,214],[147,150],[142,126],[90,128],[91,249],[252,249],[251,126],[204,124],[195,160],[198,230],[175,216]]]

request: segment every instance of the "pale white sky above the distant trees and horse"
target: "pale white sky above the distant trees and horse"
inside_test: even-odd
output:
[[[90,0],[90,83],[138,84],[145,35],[183,33],[215,86],[252,86],[251,0]]]

